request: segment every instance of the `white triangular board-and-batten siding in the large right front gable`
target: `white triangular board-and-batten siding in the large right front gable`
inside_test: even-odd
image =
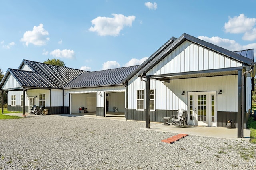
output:
[[[219,53],[201,47],[189,41],[183,42],[146,75],[161,75],[229,67],[241,67],[242,64]]]

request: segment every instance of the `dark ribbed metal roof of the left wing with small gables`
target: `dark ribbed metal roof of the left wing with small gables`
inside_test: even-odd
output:
[[[33,71],[21,70],[24,64]],[[12,74],[23,87],[60,89],[85,72],[87,71],[23,60],[19,69],[8,69],[0,87],[2,88],[8,75]]]

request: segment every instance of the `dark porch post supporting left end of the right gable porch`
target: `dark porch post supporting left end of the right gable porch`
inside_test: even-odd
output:
[[[146,114],[146,128],[150,128],[150,108],[149,108],[149,101],[150,101],[150,78],[146,77],[146,92],[145,92],[145,114]]]

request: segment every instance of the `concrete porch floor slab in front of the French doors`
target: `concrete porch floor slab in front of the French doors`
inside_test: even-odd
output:
[[[153,123],[153,122],[152,122]],[[155,123],[155,122],[154,122]],[[157,125],[152,125],[150,128],[142,128],[144,130],[155,130],[161,132],[171,132],[171,133],[182,133],[188,135],[196,136],[208,136],[214,138],[227,138],[227,139],[237,139],[237,128],[228,129],[226,127],[204,127],[204,126],[193,126],[193,125],[169,125],[165,126],[163,123],[157,123]],[[250,140],[250,130],[244,129],[244,138],[242,140]]]

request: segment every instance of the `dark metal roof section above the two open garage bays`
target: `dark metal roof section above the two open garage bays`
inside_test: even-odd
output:
[[[136,68],[138,68],[138,65],[82,73],[66,85],[64,89],[122,85],[123,79],[125,79]]]

